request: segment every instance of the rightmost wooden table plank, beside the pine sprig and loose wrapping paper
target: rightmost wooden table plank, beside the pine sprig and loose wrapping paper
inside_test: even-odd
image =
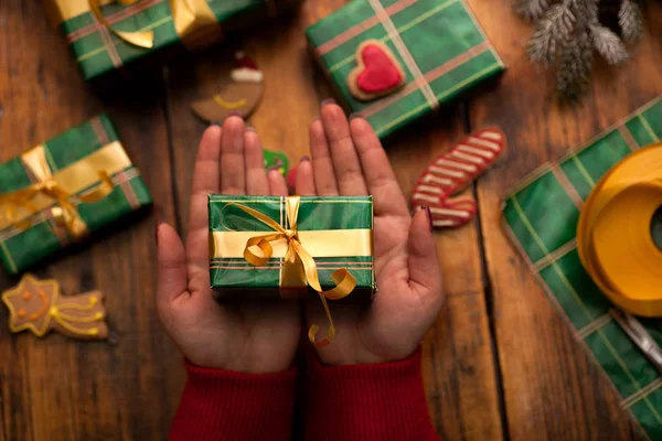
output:
[[[479,184],[494,327],[511,439],[628,440],[634,427],[611,389],[570,335],[500,228],[505,191],[543,162],[588,140],[662,90],[660,31],[617,68],[599,63],[594,86],[578,107],[559,107],[553,78],[525,60],[531,26],[508,0],[468,1],[509,65],[496,88],[470,104],[473,129],[498,125],[510,149]],[[649,29],[662,8],[649,4]]]

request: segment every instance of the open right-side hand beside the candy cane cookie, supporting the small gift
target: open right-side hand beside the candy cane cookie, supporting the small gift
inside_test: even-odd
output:
[[[297,168],[300,195],[373,195],[374,252],[378,292],[371,305],[329,302],[335,340],[318,348],[325,364],[365,364],[410,355],[444,302],[441,270],[429,212],[409,215],[382,144],[361,118],[348,122],[334,104],[322,106],[310,127],[312,161]],[[352,294],[350,294],[352,295]],[[308,324],[322,325],[314,299],[307,305]],[[320,330],[319,335],[324,335]]]

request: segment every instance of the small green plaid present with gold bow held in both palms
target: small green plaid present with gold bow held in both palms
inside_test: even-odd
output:
[[[298,299],[312,290],[332,324],[325,299],[370,301],[375,293],[372,196],[210,195],[209,208],[218,298]]]

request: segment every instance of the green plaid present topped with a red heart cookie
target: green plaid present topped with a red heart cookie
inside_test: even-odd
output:
[[[461,0],[354,0],[306,33],[345,107],[381,138],[505,68]]]

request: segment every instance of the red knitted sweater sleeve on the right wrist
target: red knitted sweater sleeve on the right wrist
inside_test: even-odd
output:
[[[439,441],[425,400],[420,351],[374,365],[323,366],[310,358],[307,440]]]

